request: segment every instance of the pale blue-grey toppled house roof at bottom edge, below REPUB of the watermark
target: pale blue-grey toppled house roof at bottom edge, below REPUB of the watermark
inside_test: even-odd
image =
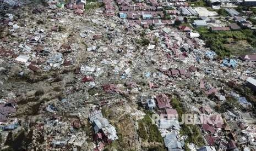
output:
[[[168,151],[172,150],[182,150],[182,144],[177,140],[176,133],[168,133],[164,137],[165,147],[167,147]]]

